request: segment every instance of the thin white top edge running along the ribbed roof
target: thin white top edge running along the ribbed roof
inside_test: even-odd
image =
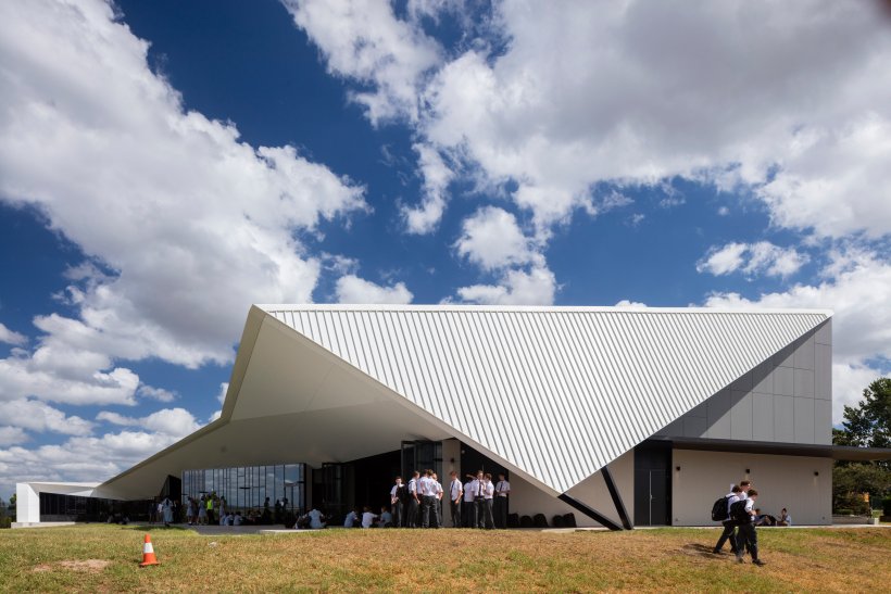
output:
[[[464,305],[456,303],[441,304],[360,304],[360,303],[256,303],[253,307],[272,313],[288,311],[329,311],[329,312],[613,312],[635,314],[818,314],[827,318],[834,312],[828,308],[798,307],[616,307],[601,305]]]

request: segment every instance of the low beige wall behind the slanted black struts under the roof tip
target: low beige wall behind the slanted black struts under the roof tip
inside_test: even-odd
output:
[[[443,458],[446,456],[443,455]],[[625,502],[625,508],[629,517],[633,520],[635,514],[635,453],[633,451],[623,454],[619,458],[608,465],[616,488]],[[600,526],[598,522],[581,514],[577,509],[566,505],[553,495],[550,495],[537,486],[512,476],[511,481],[511,503],[510,511],[520,516],[534,516],[544,514],[548,523],[551,525],[553,517],[557,514],[573,513],[576,516],[576,523],[582,527]],[[622,523],[616,513],[603,476],[597,472],[588,477],[585,481],[570,489],[567,494],[576,500],[593,507],[616,523]]]

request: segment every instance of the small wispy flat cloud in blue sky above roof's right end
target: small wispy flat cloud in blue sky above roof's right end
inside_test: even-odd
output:
[[[794,248],[779,248],[769,241],[732,242],[721,248],[712,248],[697,263],[697,270],[718,276],[739,270],[749,276],[764,274],[785,278],[798,273],[808,261],[807,254],[800,253]]]

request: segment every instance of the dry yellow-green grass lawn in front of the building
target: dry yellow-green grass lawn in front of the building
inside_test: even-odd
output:
[[[162,565],[142,569],[145,532],[105,525],[0,531],[0,591],[887,592],[891,578],[884,528],[760,530],[766,567],[712,555],[718,530],[201,536],[153,527]]]

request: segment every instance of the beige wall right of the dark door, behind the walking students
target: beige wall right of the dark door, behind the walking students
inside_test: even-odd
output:
[[[744,479],[758,491],[757,506],[765,514],[778,515],[786,507],[796,525],[832,522],[829,458],[675,450],[672,472],[675,526],[716,526],[712,504]]]

